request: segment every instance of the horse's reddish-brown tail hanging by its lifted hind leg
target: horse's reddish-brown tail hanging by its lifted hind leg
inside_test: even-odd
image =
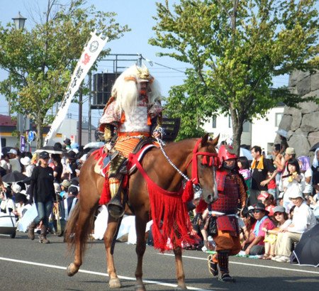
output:
[[[65,229],[65,240],[67,241],[67,248],[69,251],[74,252],[76,243],[79,242],[82,255],[86,250],[87,238],[91,234],[91,231],[94,227],[94,211],[91,212],[88,219],[82,225],[82,229],[77,229],[77,223],[79,220],[79,215],[81,213],[81,203],[78,202],[75,204],[74,209],[67,221],[67,226]]]

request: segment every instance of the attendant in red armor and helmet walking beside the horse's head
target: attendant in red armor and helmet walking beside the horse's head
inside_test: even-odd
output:
[[[237,223],[237,207],[245,207],[247,193],[245,181],[237,168],[237,155],[232,146],[220,146],[218,151],[220,169],[216,171],[218,200],[211,205],[212,215],[217,216],[218,234],[213,236],[217,253],[208,256],[208,267],[220,281],[233,282],[229,275],[228,256],[240,252],[240,236]]]

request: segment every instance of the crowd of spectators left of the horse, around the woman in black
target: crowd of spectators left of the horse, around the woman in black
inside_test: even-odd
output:
[[[77,143],[71,143],[69,138],[65,139],[63,145],[61,143],[55,143],[53,148],[54,150],[52,150],[52,153],[40,150],[39,153],[34,154],[28,152],[21,153],[18,149],[11,148],[1,155],[0,214],[14,214],[18,223],[28,209],[32,207],[33,203],[35,203],[38,213],[40,212],[40,206],[37,203],[39,197],[35,194],[37,191],[35,189],[40,187],[37,178],[40,180],[42,178],[35,174],[35,169],[37,169],[41,163],[42,165],[47,163],[48,169],[52,169],[49,172],[52,172],[53,175],[52,189],[54,190],[49,195],[50,197],[45,199],[46,201],[50,200],[50,202],[52,202],[52,204],[49,205],[50,213],[47,215],[48,221],[46,221],[46,216],[39,216],[37,218],[39,221],[35,219],[34,225],[31,223],[31,226],[34,227],[31,227],[30,234],[33,231],[40,231],[44,226],[45,233],[56,233],[57,216],[59,216],[59,220],[61,221],[60,225],[62,225],[62,227],[65,226],[64,221],[67,221],[69,214],[77,203],[79,194],[79,172],[86,160],[89,150],[92,149],[84,149]],[[25,178],[13,182],[2,181],[1,177],[13,172],[22,173],[25,175]],[[48,173],[48,175],[51,175],[50,173]],[[48,183],[48,180],[46,180],[45,184],[47,185]],[[34,239],[34,234],[29,237]],[[48,243],[49,241],[45,238],[45,240],[42,240],[41,242]]]

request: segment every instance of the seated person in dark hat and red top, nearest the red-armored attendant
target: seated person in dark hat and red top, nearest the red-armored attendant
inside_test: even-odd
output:
[[[266,230],[274,229],[276,226],[269,219],[269,212],[265,209],[264,204],[257,203],[252,209],[254,214],[254,219],[256,219],[256,224],[254,224],[253,229],[253,240],[244,244],[244,250],[246,255],[259,256],[264,254],[264,236]]]

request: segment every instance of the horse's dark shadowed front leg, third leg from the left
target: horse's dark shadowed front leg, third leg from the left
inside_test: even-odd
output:
[[[147,215],[144,215],[148,217]],[[146,229],[147,218],[141,217],[140,215],[135,216],[135,229],[136,229],[136,248],[135,252],[138,255],[138,265],[136,266],[135,270],[135,278],[136,278],[136,285],[135,291],[145,291],[145,285],[142,280],[142,263],[143,263],[143,256],[145,253],[146,242],[145,242],[145,229]]]

